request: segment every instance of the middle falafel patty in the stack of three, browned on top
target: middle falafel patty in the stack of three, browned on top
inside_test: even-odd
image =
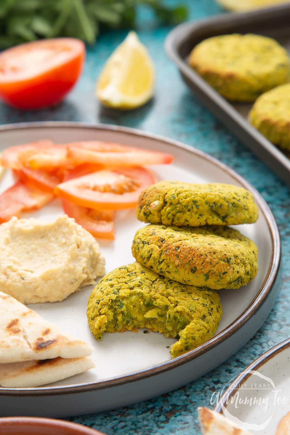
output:
[[[166,278],[215,290],[240,288],[258,271],[257,246],[229,227],[150,224],[136,232],[132,253]]]

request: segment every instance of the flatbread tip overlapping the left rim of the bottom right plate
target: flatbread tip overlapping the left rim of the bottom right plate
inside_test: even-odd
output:
[[[218,412],[201,406],[197,408],[197,411],[203,435],[251,435],[248,431],[232,426]]]

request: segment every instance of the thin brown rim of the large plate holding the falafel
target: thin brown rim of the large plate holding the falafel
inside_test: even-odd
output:
[[[111,378],[104,381],[94,381],[94,382],[86,382],[82,384],[74,384],[74,385],[62,385],[56,387],[35,387],[35,388],[0,388],[0,395],[15,395],[15,396],[43,396],[43,395],[59,395],[59,394],[72,394],[72,393],[80,393],[84,391],[94,391],[100,390],[110,387],[115,387],[117,385],[126,384],[128,382],[139,381],[144,378],[149,378],[150,376],[154,376],[165,372],[167,370],[171,370],[175,367],[183,365],[188,361],[193,360],[194,358],[203,355],[205,352],[210,349],[216,347],[221,342],[225,341],[229,338],[233,333],[238,331],[247,321],[257,313],[263,303],[266,301],[267,297],[270,294],[271,288],[276,281],[278,270],[280,267],[280,258],[281,258],[281,243],[280,243],[280,234],[277,227],[277,223],[275,218],[270,210],[270,207],[267,205],[266,201],[264,201],[263,197],[259,194],[259,192],[246,181],[243,177],[237,174],[237,172],[233,171],[225,164],[221,163],[214,157],[211,157],[209,154],[204,153],[203,151],[197,150],[194,147],[183,144],[182,142],[175,141],[172,139],[167,139],[167,137],[159,136],[157,134],[146,133],[144,131],[136,130],[128,127],[119,127],[115,125],[105,125],[105,124],[87,124],[82,122],[58,122],[58,121],[48,121],[48,122],[30,122],[30,123],[19,123],[19,124],[6,124],[0,126],[1,131],[13,131],[13,130],[24,130],[24,129],[41,129],[43,127],[46,128],[88,128],[92,130],[99,131],[114,131],[123,134],[128,134],[130,136],[145,136],[152,141],[159,141],[166,144],[168,147],[179,147],[183,148],[193,155],[197,155],[204,160],[210,162],[211,164],[219,167],[222,171],[229,174],[233,177],[238,183],[240,183],[243,187],[250,190],[257,202],[260,212],[263,213],[264,218],[267,222],[272,241],[272,252],[271,252],[271,261],[270,267],[267,271],[267,275],[260,287],[257,291],[255,298],[251,301],[250,305],[230,324],[227,328],[224,328],[223,331],[220,331],[219,334],[215,335],[210,340],[203,343],[203,345],[198,346],[192,351],[187,352],[184,355],[180,355],[177,358],[174,358],[169,361],[165,361],[161,364],[155,365],[151,368],[140,370],[137,372],[129,373],[128,375],[117,376],[115,378]]]

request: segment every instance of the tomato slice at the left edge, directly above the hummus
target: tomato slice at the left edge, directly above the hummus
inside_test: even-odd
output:
[[[21,211],[35,210],[53,200],[54,195],[33,189],[21,181],[0,195],[0,223],[12,216],[20,217]]]

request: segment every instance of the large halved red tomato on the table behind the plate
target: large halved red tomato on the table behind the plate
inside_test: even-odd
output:
[[[20,44],[0,54],[0,98],[20,109],[57,104],[83,68],[85,45],[74,38]]]

